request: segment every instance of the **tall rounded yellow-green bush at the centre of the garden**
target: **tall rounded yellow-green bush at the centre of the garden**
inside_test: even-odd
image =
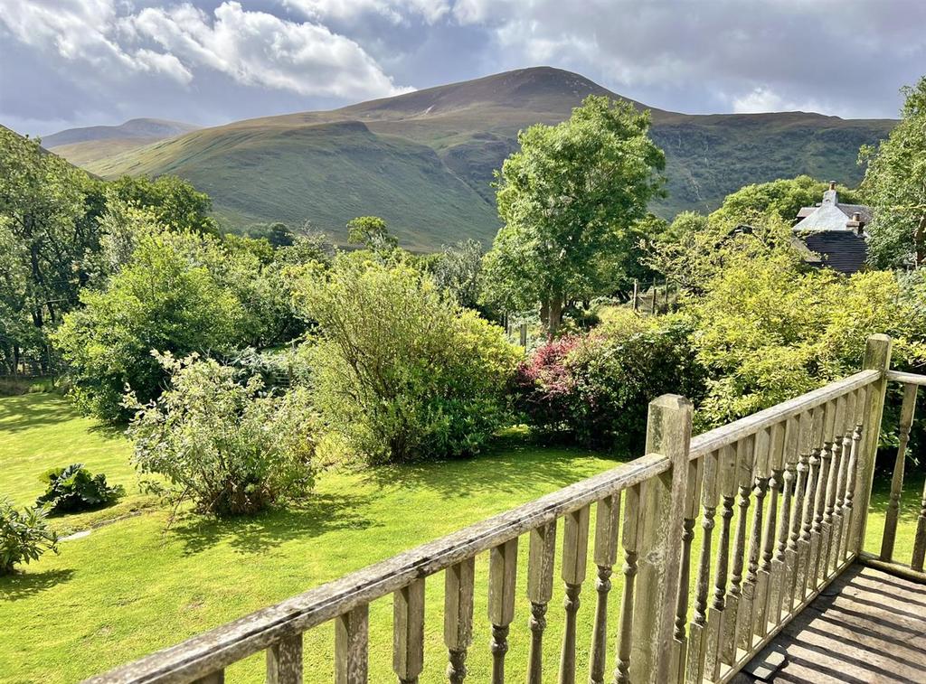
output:
[[[341,256],[308,272],[296,297],[319,323],[316,405],[369,461],[473,454],[504,422],[518,348],[430,277]]]

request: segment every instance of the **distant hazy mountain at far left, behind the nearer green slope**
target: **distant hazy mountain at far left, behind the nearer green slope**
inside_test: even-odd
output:
[[[45,149],[74,164],[86,165],[166,138],[195,131],[198,126],[159,118],[132,118],[119,126],[88,126],[58,131],[42,139]]]

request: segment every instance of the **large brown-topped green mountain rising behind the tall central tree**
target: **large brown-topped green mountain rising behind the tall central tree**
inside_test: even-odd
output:
[[[343,239],[350,218],[373,214],[404,245],[436,249],[465,237],[492,240],[490,183],[518,131],[568,118],[588,94],[619,98],[579,74],[524,68],[332,111],[237,121],[91,161],[56,152],[109,178],[175,173],[209,193],[231,227],[309,220]],[[669,196],[652,208],[666,218],[716,208],[747,183],[801,173],[856,184],[858,147],[895,125],[805,112],[650,110],[669,179]]]

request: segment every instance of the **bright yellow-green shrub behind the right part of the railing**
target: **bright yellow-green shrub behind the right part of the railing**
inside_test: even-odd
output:
[[[699,418],[720,425],[851,374],[873,333],[895,337],[898,354],[921,354],[926,329],[911,330],[900,294],[891,273],[846,279],[798,272],[786,255],[731,258],[686,308],[710,375]]]

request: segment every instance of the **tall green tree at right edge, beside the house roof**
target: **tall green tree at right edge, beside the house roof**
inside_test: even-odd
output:
[[[859,155],[868,162],[861,189],[874,211],[869,262],[881,268],[926,261],[926,76],[901,92],[907,99],[900,123]]]

